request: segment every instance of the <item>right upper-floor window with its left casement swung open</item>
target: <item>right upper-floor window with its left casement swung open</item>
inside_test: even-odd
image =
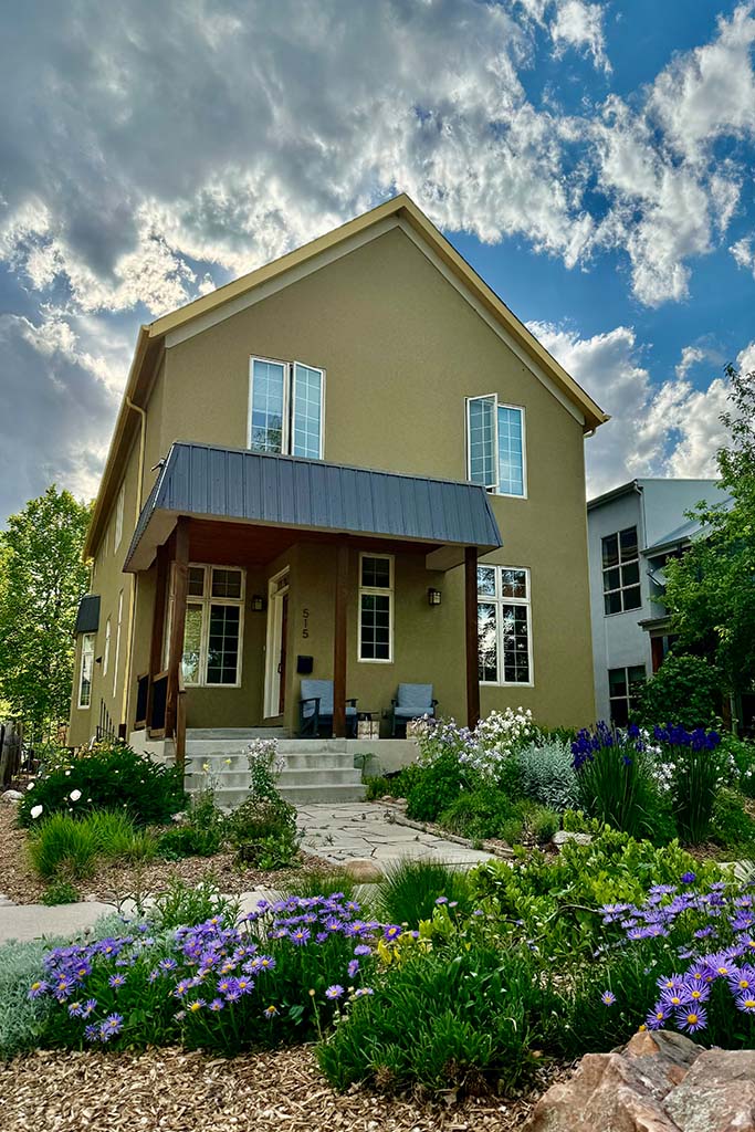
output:
[[[466,402],[467,475],[497,495],[526,495],[524,410],[491,393]]]

